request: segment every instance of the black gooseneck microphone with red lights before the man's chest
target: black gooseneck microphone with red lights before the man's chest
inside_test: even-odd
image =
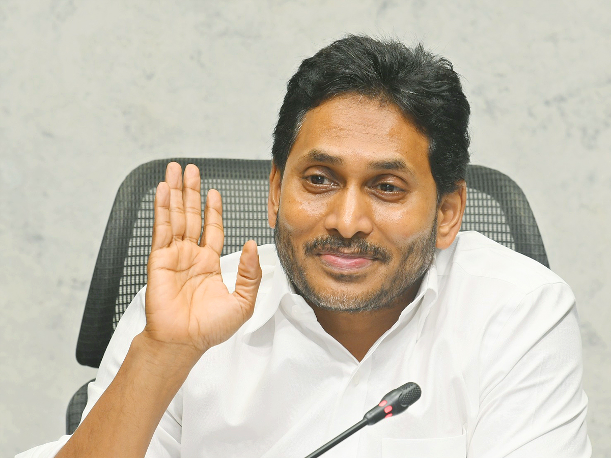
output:
[[[414,402],[420,399],[420,394],[422,394],[422,390],[420,390],[418,384],[414,382],[408,382],[405,383],[405,385],[395,388],[387,393],[378,405],[373,407],[373,409],[371,409],[369,412],[365,413],[363,420],[349,427],[346,429],[346,431],[342,432],[342,434],[331,439],[321,448],[313,451],[305,458],[316,458],[321,456],[327,450],[342,442],[342,440],[344,440],[346,437],[349,437],[355,432],[359,431],[359,429],[362,427],[367,426],[368,424],[378,423],[378,421],[382,420],[382,418],[388,418],[389,416],[397,415],[398,413],[407,410],[410,405],[414,404]]]

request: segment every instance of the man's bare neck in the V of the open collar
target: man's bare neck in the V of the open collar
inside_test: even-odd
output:
[[[397,322],[404,308],[414,300],[419,288],[420,282],[378,310],[346,312],[312,304],[310,307],[325,332],[361,361],[371,346]]]

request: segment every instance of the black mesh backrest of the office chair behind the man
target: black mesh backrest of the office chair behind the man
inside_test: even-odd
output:
[[[249,239],[258,245],[273,242],[267,220],[270,161],[178,158],[140,165],[121,184],[104,232],[76,347],[76,358],[82,365],[100,365],[117,322],[147,282],[155,189],[171,161],[183,170],[187,164],[199,167],[202,210],[208,189],[221,192],[223,254],[241,250]],[[535,218],[518,185],[496,170],[470,165],[467,187],[461,230],[479,231],[548,265]]]

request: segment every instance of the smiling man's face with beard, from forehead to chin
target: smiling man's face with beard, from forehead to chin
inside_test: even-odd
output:
[[[406,305],[433,260],[436,186],[428,139],[397,107],[342,95],[305,116],[269,224],[290,281],[310,305]]]

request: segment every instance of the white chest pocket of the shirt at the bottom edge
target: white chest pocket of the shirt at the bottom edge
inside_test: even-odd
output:
[[[467,435],[427,439],[382,439],[382,458],[465,458]]]

